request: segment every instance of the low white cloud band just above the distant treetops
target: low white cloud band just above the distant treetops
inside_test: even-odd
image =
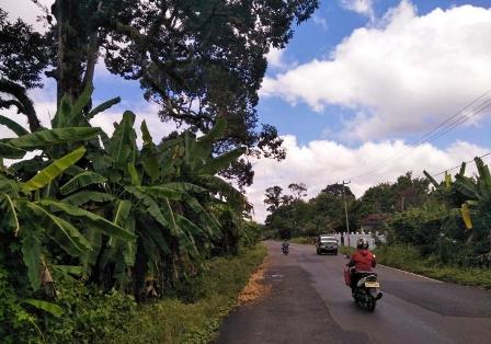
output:
[[[431,145],[407,146],[399,140],[365,142],[351,148],[332,140],[310,141],[302,146],[294,136],[283,138],[287,149],[284,161],[253,161],[254,184],[247,188],[247,195],[254,205],[255,219],[259,221],[263,221],[267,215],[263,204],[264,191],[273,185],[287,190],[292,182],[304,182],[308,186],[308,197],[313,197],[329,184],[351,180],[350,187],[359,197],[369,186],[393,182],[407,171],[412,170],[415,176],[423,175],[423,170],[434,174],[490,150],[489,147],[464,141],[456,141],[446,149]],[[399,154],[401,151],[403,153]],[[395,154],[397,159],[391,159]],[[377,171],[356,177],[376,167],[379,167]]]

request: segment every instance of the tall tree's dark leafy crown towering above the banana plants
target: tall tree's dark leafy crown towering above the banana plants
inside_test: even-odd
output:
[[[317,7],[318,0],[56,0],[44,9],[46,34],[22,21],[8,24],[25,27],[20,51],[11,46],[20,65],[31,60],[33,53],[21,53],[34,41],[36,54],[48,59],[21,74],[2,73],[1,81],[31,88],[47,67],[46,76],[57,81],[58,100],[64,94],[75,100],[92,84],[102,58],[112,73],[139,81],[145,99],[160,105],[162,121],[206,133],[217,117],[226,117],[229,129],[217,152],[244,145],[249,156],[283,159],[276,129],[258,127],[265,55],[283,48],[294,24],[307,20]],[[5,88],[0,92],[10,95],[3,100],[16,99]],[[251,170],[242,159],[224,174],[238,177],[242,186],[252,182]]]

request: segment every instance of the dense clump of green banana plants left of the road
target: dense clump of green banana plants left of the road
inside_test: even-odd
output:
[[[53,129],[14,127],[21,136],[4,139],[0,150],[9,158],[15,149],[18,158],[41,150],[0,172],[0,268],[16,272],[5,280],[12,295],[5,309],[31,321],[26,330],[12,326],[55,342],[114,334],[132,314],[124,293],[141,301],[175,290],[205,259],[252,246],[261,231],[246,219],[247,198],[216,175],[244,152],[213,153],[225,121],[201,137],[184,131],[160,145],[144,122],[140,149],[132,112],[112,136],[91,127],[81,115],[91,92],[64,98]],[[54,270],[82,279],[67,282]],[[69,321],[57,318],[62,312]]]

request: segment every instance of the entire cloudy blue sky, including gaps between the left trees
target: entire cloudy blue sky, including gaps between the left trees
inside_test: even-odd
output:
[[[0,7],[39,25],[30,0],[0,0]],[[277,127],[287,157],[251,160],[255,177],[247,195],[255,219],[267,215],[269,186],[305,183],[313,197],[344,180],[359,197],[407,171],[437,174],[490,152],[490,34],[489,0],[321,1],[286,48],[267,55],[258,114],[260,123]],[[112,131],[129,108],[149,123],[156,139],[175,128],[159,121],[138,83],[110,74],[103,65],[94,87],[95,103],[117,95],[123,102],[93,125]],[[48,81],[31,95],[47,123],[56,108],[55,85]],[[461,119],[442,130],[448,118]],[[10,135],[0,128],[0,138]]]

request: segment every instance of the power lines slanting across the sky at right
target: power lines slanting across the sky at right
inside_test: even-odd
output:
[[[399,152],[396,152],[393,156],[391,156],[390,158],[384,160],[382,162],[376,164],[373,169],[370,169],[369,171],[352,176],[351,179],[359,179],[362,176],[372,174],[380,169],[384,169],[385,167],[387,167],[387,162],[400,157],[403,152],[408,151],[409,149],[411,149],[413,145],[422,145],[422,144],[426,144],[426,142],[431,142],[436,140],[437,138],[442,137],[443,135],[445,135],[446,133],[455,129],[456,127],[458,127],[459,125],[466,123],[467,121],[469,121],[471,117],[478,115],[479,113],[483,112],[484,110],[487,110],[488,107],[491,106],[491,99],[484,100],[483,102],[479,103],[476,107],[473,107],[469,113],[464,113],[467,108],[469,108],[470,106],[472,106],[473,104],[476,104],[477,102],[479,102],[480,100],[482,100],[487,94],[489,94],[491,92],[491,89],[489,89],[488,91],[486,91],[483,94],[481,94],[480,96],[478,96],[477,99],[472,100],[469,104],[467,104],[466,106],[464,106],[461,110],[459,110],[458,112],[456,112],[454,115],[452,115],[450,117],[448,117],[447,119],[445,119],[444,122],[442,122],[441,124],[438,124],[436,127],[434,127],[433,129],[426,131],[422,137],[418,138],[416,140],[413,140],[411,142],[408,144],[408,147],[402,149]],[[464,113],[464,115],[463,115]],[[461,115],[461,116],[459,116]],[[459,116],[459,117],[458,117]],[[457,118],[456,118],[457,117]],[[442,128],[442,129],[441,129]],[[439,129],[439,130],[438,130]],[[435,133],[436,131],[436,133]],[[434,133],[434,134],[433,134]],[[413,152],[414,153],[414,152]]]

